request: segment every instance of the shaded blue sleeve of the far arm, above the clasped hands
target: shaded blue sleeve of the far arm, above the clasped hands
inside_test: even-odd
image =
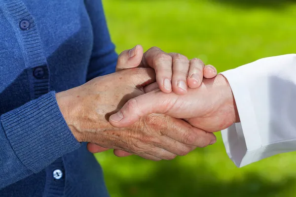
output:
[[[93,28],[93,51],[89,62],[87,80],[115,71],[117,54],[111,42],[101,0],[85,0]]]

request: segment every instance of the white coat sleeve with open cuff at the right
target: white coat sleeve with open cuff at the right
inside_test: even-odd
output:
[[[296,54],[260,59],[221,74],[241,121],[222,131],[234,164],[242,167],[296,151]]]

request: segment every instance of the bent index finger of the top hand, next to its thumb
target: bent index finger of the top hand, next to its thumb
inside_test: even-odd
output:
[[[157,47],[144,53],[142,65],[152,67],[156,72],[156,82],[162,92],[172,92],[172,57]]]

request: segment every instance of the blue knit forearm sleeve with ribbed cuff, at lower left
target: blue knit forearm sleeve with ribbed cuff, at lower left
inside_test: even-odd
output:
[[[0,117],[0,189],[80,147],[49,92]]]

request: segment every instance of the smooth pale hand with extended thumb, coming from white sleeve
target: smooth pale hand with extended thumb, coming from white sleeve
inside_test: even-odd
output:
[[[199,88],[189,89],[186,95],[164,94],[158,89],[131,99],[111,115],[109,122],[114,127],[126,127],[152,113],[185,119],[193,127],[208,132],[221,131],[239,122],[231,88],[221,74],[205,79]],[[122,118],[114,121],[118,114]]]

